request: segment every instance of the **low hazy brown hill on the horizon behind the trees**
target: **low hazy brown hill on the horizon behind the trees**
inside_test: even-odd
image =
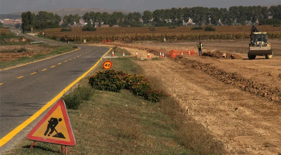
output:
[[[64,8],[64,9],[58,9],[58,10],[44,10],[47,12],[56,13],[59,16],[69,15],[69,14],[79,14],[80,16],[84,15],[86,12],[107,12],[107,13],[113,13],[116,12],[123,12],[125,14],[130,13],[130,11],[124,11],[124,10],[108,10],[108,9],[102,9],[102,8]],[[31,11],[32,13],[38,13],[38,11]],[[22,12],[16,12],[16,13],[9,13],[12,15],[21,15]]]

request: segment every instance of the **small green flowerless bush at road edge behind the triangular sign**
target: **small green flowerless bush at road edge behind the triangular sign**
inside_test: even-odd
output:
[[[89,100],[92,94],[93,90],[90,86],[78,86],[73,92],[64,95],[62,99],[65,102],[66,108],[78,109],[81,102]]]

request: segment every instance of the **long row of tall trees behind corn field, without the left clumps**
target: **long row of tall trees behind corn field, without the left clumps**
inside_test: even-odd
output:
[[[273,19],[268,19],[272,16]],[[87,12],[83,15],[86,23],[99,23],[99,25],[109,24],[133,27],[150,24],[154,26],[181,26],[183,22],[188,23],[191,19],[198,25],[219,25],[222,22],[225,25],[234,25],[235,23],[246,24],[247,21],[256,23],[258,20],[261,24],[281,24],[281,5],[271,6],[232,6],[227,8],[171,8],[157,9],[153,12],[144,11],[141,15],[139,12],[125,15],[122,12],[100,13]],[[143,23],[140,22],[143,20]]]

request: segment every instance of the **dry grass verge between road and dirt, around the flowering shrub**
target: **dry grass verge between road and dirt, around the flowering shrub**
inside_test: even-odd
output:
[[[144,73],[133,58],[111,58],[111,61],[115,70]],[[102,70],[102,66],[99,65],[96,70]],[[150,82],[161,88],[156,77],[150,77]],[[64,97],[79,96],[85,90],[89,90],[87,78]],[[68,154],[224,152],[223,144],[202,125],[186,117],[185,110],[171,97],[160,103],[151,103],[127,90],[120,93],[92,90],[90,95],[80,98],[79,104],[77,110],[68,109],[76,138],[76,146],[68,147]],[[32,141],[24,139],[6,154],[60,154],[59,145],[36,142],[34,148],[29,149],[31,144]]]

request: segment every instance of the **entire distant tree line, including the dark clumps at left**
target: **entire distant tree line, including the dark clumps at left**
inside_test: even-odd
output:
[[[268,17],[272,16],[273,19]],[[22,29],[23,31],[30,31],[30,27],[36,29],[59,27],[61,17],[54,13],[46,11],[39,11],[37,14],[23,12]],[[181,26],[183,22],[188,23],[189,19],[198,25],[219,25],[219,21],[225,25],[234,25],[235,23],[246,24],[247,21],[256,23],[258,20],[260,24],[281,24],[281,5],[270,6],[232,6],[227,8],[206,8],[206,7],[192,7],[192,8],[171,8],[171,9],[157,9],[153,12],[144,11],[124,14],[122,12],[87,12],[82,17],[78,14],[65,15],[63,22],[65,25],[74,25],[79,23],[82,18],[88,27],[92,24],[98,23],[99,26],[106,24],[109,26],[131,26],[141,27],[144,25],[153,26]],[[143,20],[143,22],[140,21]]]

